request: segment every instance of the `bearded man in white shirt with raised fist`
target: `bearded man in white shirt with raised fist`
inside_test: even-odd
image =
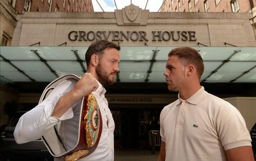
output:
[[[92,92],[102,115],[102,134],[96,150],[79,161],[113,161],[115,124],[103,86],[112,85],[119,71],[119,50],[119,45],[107,40],[93,42],[85,54],[87,73],[78,82],[61,82],[43,102],[21,116],[14,132],[15,141],[23,144],[36,140],[62,121],[59,135],[67,149],[71,149],[77,142],[79,126],[78,119],[73,118],[79,117],[82,98]]]

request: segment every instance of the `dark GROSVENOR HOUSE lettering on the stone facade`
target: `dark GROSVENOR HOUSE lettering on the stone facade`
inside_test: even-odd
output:
[[[196,41],[195,31],[70,31],[70,41]]]

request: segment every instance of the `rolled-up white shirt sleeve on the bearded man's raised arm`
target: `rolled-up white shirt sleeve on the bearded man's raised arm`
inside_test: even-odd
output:
[[[66,80],[56,86],[47,98],[32,110],[20,117],[14,131],[17,144],[26,143],[40,138],[58,121],[71,119],[73,117],[72,105],[60,118],[51,117],[52,111],[58,99],[73,89],[76,84],[73,80]]]

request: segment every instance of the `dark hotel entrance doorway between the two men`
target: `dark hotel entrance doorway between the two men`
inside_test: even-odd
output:
[[[126,105],[121,105],[125,107]],[[134,105],[133,105],[134,106]],[[137,105],[136,105],[137,106]],[[138,105],[138,108],[111,109],[115,121],[114,146],[121,148],[150,147],[149,131],[159,130],[160,112],[164,105],[158,108],[148,105]],[[152,124],[153,117],[156,124]]]

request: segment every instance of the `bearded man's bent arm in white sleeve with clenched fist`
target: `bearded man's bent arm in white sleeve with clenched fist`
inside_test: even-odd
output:
[[[90,83],[90,85],[84,83],[85,79],[88,79],[86,82]],[[80,80],[80,82],[67,80],[62,82],[61,85],[57,85],[43,102],[21,116],[14,131],[15,141],[18,144],[23,144],[36,140],[57,124],[58,121],[71,119],[73,111],[70,107],[79,105],[80,102],[77,100],[82,97],[77,96],[76,88],[81,88],[80,85],[85,86],[81,90],[84,90],[83,94],[86,95],[98,87],[98,83],[90,73],[85,74]],[[61,96],[63,94],[64,96]],[[75,98],[68,98],[66,95],[74,95]],[[55,111],[56,115],[52,114],[53,111]]]

